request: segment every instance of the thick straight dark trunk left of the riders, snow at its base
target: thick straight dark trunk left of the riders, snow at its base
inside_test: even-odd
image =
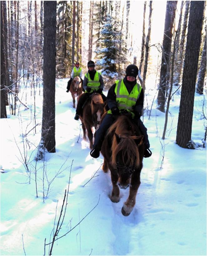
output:
[[[42,143],[55,152],[56,1],[44,1]]]

